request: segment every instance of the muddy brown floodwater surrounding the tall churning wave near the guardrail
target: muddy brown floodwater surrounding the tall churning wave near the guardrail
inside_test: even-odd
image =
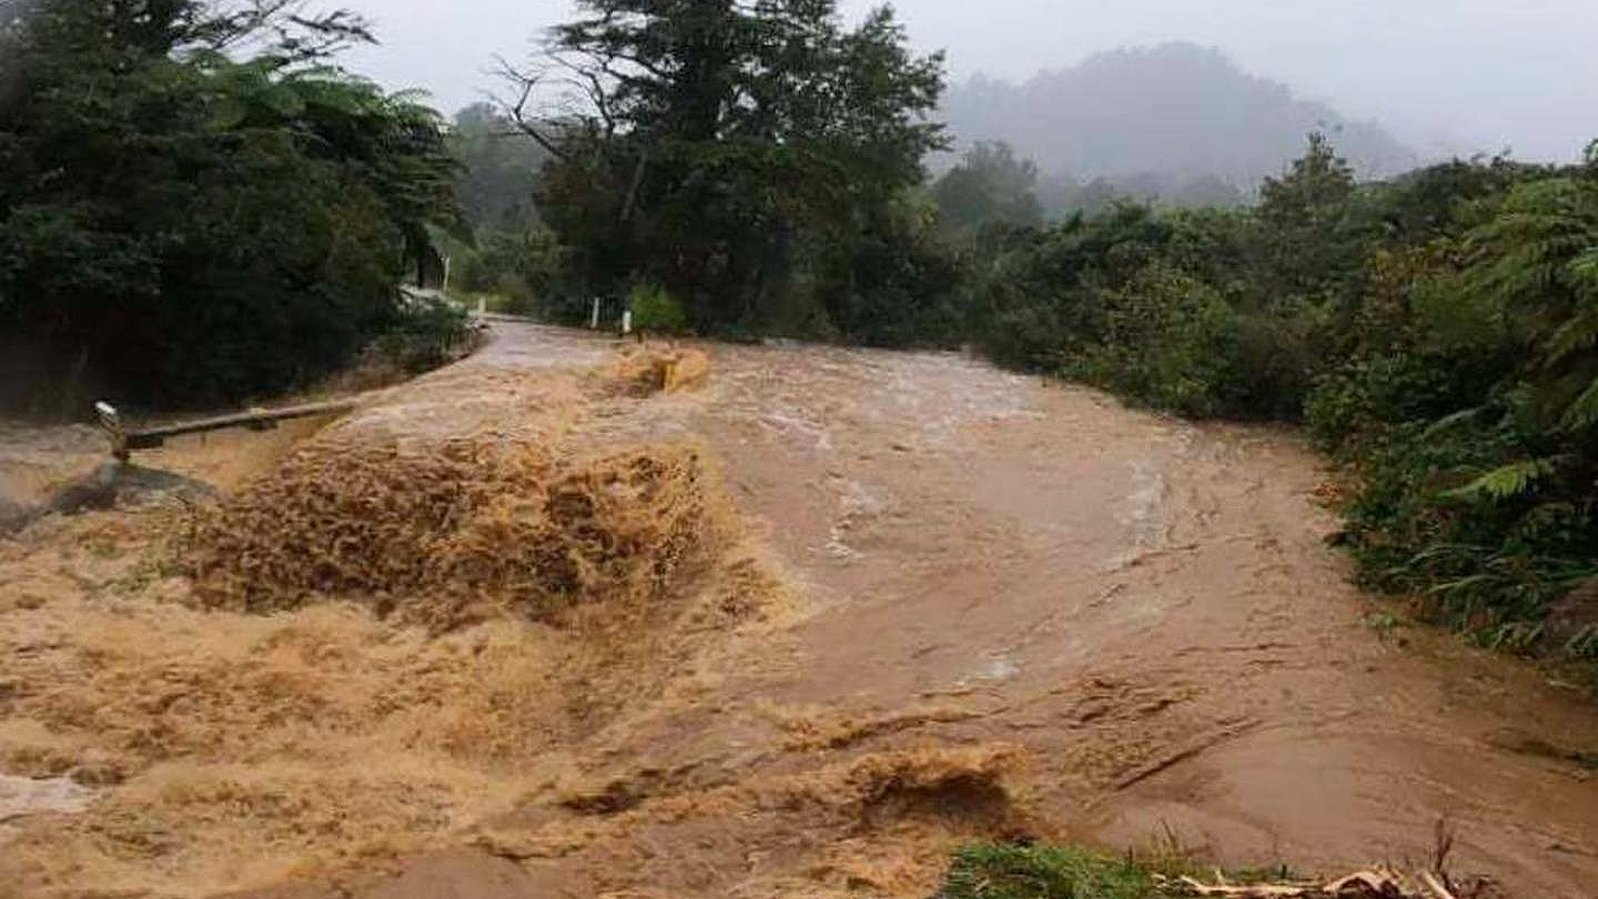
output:
[[[1440,816],[1515,894],[1598,881],[1590,701],[1373,627],[1291,434],[951,355],[706,350],[697,390],[574,406],[614,347],[507,325],[337,426],[515,442],[580,406],[569,457],[703,446],[741,541],[658,617],[201,611],[133,574],[181,518],[5,549],[34,585],[0,609],[0,771],[104,784],[24,821],[18,883],[919,897],[972,838],[1344,873],[1427,857]]]

